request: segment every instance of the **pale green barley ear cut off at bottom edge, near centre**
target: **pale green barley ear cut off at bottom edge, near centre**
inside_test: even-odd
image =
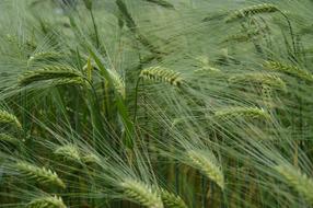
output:
[[[148,208],[163,208],[162,198],[156,188],[132,178],[126,178],[120,183],[125,196],[135,203]]]

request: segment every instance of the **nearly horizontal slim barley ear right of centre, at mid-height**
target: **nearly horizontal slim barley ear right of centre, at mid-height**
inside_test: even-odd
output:
[[[258,107],[227,107],[215,113],[215,118],[228,120],[233,118],[270,120],[270,115]]]

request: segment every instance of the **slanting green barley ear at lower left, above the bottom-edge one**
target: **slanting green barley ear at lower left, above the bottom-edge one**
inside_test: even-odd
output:
[[[16,162],[14,167],[37,183],[66,188],[66,184],[59,178],[58,174],[49,169],[39,167],[23,161]]]

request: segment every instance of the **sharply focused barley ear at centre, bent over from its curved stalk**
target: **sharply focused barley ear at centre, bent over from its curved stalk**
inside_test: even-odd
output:
[[[181,86],[184,83],[179,72],[175,72],[162,67],[150,67],[141,70],[140,78],[154,82],[166,82],[174,86]]]

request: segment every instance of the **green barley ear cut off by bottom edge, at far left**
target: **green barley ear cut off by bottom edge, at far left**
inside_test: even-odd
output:
[[[61,197],[47,196],[33,199],[26,208],[67,208]]]

